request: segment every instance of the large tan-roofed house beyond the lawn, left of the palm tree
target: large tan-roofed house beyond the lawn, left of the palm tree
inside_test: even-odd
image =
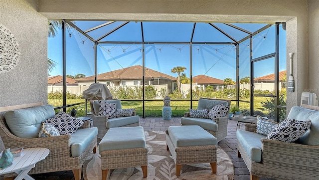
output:
[[[161,73],[159,71],[145,68],[145,85],[166,85],[167,89],[174,90],[177,78]],[[79,86],[90,86],[94,83],[94,76],[76,79]],[[143,85],[143,66],[136,65],[117,69],[110,72],[98,74],[98,83],[105,83],[108,86],[142,86]]]

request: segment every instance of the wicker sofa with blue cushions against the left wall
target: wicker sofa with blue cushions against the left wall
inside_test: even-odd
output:
[[[10,115],[10,116],[9,116]],[[19,118],[23,115],[25,118]],[[54,116],[55,112],[52,105],[42,105],[42,103],[31,103],[17,106],[0,107],[0,136],[5,148],[36,148],[43,147],[50,150],[49,155],[42,161],[38,162],[28,174],[42,174],[58,171],[72,170],[74,180],[81,179],[82,165],[88,155],[96,152],[97,145],[97,128],[90,128],[88,121],[74,132],[72,135],[60,135],[46,138],[21,138],[15,136],[9,129],[7,122],[21,120],[19,125],[34,123],[30,125],[30,129],[26,132],[30,133],[33,130],[40,130],[41,123],[45,118]],[[7,120],[5,119],[7,117]],[[9,118],[10,117],[10,118]],[[15,122],[14,120],[14,122]],[[32,129],[32,130],[31,130]],[[6,178],[14,177],[16,174],[4,175]]]

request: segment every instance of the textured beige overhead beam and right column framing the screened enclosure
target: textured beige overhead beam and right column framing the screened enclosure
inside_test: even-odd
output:
[[[39,1],[39,12],[52,19],[287,22],[287,70],[290,67],[288,53],[294,52],[293,75],[296,81],[295,92],[288,92],[287,95],[288,112],[292,106],[300,104],[301,93],[308,88],[308,82],[310,82],[307,75],[307,8],[307,0]],[[318,25],[312,28],[314,28],[313,31],[316,31]]]

